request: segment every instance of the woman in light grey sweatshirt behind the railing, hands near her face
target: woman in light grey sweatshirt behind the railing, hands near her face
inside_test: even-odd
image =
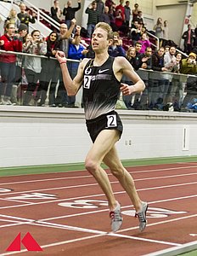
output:
[[[44,38],[40,38],[40,36],[41,33],[39,30],[32,31],[24,44],[24,52],[33,55],[46,55],[47,43]],[[40,79],[40,73],[42,70],[41,58],[25,56],[24,68],[28,84],[25,91],[23,105],[30,106],[31,96],[37,89],[37,82]]]

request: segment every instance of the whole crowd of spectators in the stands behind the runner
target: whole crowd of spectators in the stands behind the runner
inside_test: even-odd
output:
[[[193,30],[189,25],[188,30],[183,33],[183,51],[188,55],[185,58],[169,40],[167,20],[163,22],[161,18],[157,19],[153,27],[155,36],[160,38],[160,48],[155,49],[138,3],[131,9],[129,1],[124,5],[124,0],[120,0],[120,4],[115,5],[112,0],[106,0],[105,3],[95,0],[85,10],[87,28],[76,24],[75,15],[81,9],[81,0],[77,4],[78,6],[72,7],[69,0],[62,11],[59,1],[53,2],[51,17],[59,22],[59,32],[52,26],[53,31],[47,38],[42,38],[39,30],[29,33],[29,22],[36,22],[36,14],[30,15],[24,3],[20,3],[20,13],[10,10],[8,18],[4,20],[0,49],[31,55],[0,55],[0,104],[48,104],[49,107],[75,108],[76,98],[67,96],[58,61],[53,57],[57,50],[62,50],[68,59],[75,60],[68,61],[70,75],[74,78],[78,67],[76,60],[94,56],[90,38],[99,21],[110,24],[113,29],[109,55],[125,56],[146,84],[143,94],[123,96],[127,109],[180,111],[183,107],[187,109],[191,97],[197,98],[196,77],[189,80],[179,75],[197,73],[196,29]],[[64,20],[61,20],[62,16],[65,17]],[[132,86],[126,77],[122,81]]]

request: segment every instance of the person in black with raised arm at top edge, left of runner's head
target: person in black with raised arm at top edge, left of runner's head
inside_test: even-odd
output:
[[[67,6],[63,9],[63,15],[65,15],[65,24],[70,28],[71,25],[71,20],[75,19],[76,12],[81,9],[81,0],[78,0],[78,6],[77,7],[72,7],[72,2],[69,0],[67,2]]]

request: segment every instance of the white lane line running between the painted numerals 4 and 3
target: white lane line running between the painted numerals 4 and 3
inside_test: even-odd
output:
[[[166,186],[152,187],[152,188],[147,188],[147,189],[137,189],[137,190],[138,191],[147,191],[147,190],[151,190],[151,189],[168,189],[168,188],[172,188],[172,187],[193,185],[193,184],[196,184],[196,183],[197,182],[194,182],[194,183],[181,183],[181,184],[166,185]],[[46,191],[46,189],[45,189],[45,191]],[[126,193],[125,191],[114,192],[115,195],[120,195],[120,194],[125,194],[125,193]],[[28,205],[25,204],[25,205],[15,205],[15,206],[8,206],[8,207],[0,207],[0,209],[8,209],[8,208],[15,208],[15,207],[29,207],[29,206],[32,206],[32,205],[33,206],[37,206],[37,205],[43,205],[43,204],[59,202],[59,201],[70,201],[70,200],[85,199],[85,198],[89,198],[89,197],[98,197],[98,196],[104,196],[104,194],[82,195],[82,196],[73,197],[73,198],[59,199],[59,200],[53,200],[53,201],[41,201],[41,202],[36,202],[36,203],[29,202]]]

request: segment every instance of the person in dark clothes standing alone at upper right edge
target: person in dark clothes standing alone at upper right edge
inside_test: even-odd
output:
[[[184,40],[184,52],[189,55],[194,47],[195,40],[195,33],[190,24],[188,25],[188,30],[183,32],[182,38]]]

